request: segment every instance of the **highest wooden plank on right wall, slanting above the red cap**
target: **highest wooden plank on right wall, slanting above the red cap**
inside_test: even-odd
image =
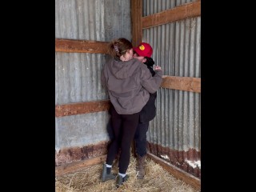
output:
[[[201,1],[186,3],[142,18],[142,29],[201,15]]]

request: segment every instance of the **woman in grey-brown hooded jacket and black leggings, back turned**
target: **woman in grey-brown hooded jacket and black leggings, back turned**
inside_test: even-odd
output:
[[[152,77],[146,65],[133,58],[133,46],[126,38],[110,42],[112,58],[102,70],[102,86],[108,91],[111,108],[111,123],[114,139],[110,143],[106,164],[103,165],[102,181],[114,179],[112,163],[121,148],[117,187],[128,178],[126,170],[130,162],[130,146],[138,126],[139,112],[161,85],[162,70],[157,66]]]

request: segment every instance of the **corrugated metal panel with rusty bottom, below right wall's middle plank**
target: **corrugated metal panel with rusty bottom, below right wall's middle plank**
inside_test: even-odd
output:
[[[201,94],[160,88],[147,132],[150,153],[201,178]]]

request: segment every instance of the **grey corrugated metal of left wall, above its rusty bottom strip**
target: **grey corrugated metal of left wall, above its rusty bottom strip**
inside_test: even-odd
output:
[[[55,0],[55,38],[131,40],[130,0]],[[100,75],[105,54],[55,52],[55,104],[107,99]],[[56,118],[55,149],[109,140],[107,112]]]

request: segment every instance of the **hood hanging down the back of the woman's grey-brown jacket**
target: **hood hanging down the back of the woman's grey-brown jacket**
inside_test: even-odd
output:
[[[112,59],[110,60],[110,72],[114,75],[114,77],[123,79],[129,78],[134,71],[138,69],[139,65],[142,65],[141,62],[136,58],[132,58],[126,62],[120,62],[118,60]]]

